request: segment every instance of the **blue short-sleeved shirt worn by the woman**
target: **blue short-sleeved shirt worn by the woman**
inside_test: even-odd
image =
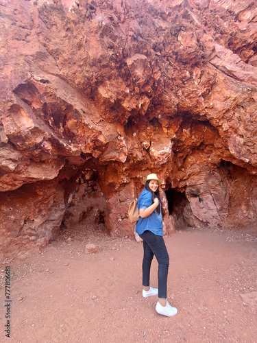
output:
[[[138,211],[140,209],[147,209],[152,203],[151,193],[144,188],[138,198]],[[149,230],[155,235],[163,236],[162,211],[158,215],[155,209],[148,217],[139,218],[136,223],[136,233],[141,235],[145,230]]]

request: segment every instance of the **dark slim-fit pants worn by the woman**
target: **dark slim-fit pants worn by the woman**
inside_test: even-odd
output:
[[[169,254],[162,236],[154,235],[145,230],[142,235],[143,257],[143,286],[149,286],[151,261],[155,256],[158,261],[158,297],[167,298],[167,276],[169,270]]]

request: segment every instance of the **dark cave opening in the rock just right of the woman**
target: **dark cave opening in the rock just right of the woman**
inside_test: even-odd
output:
[[[186,227],[186,222],[184,220],[183,211],[188,204],[188,199],[184,192],[176,189],[169,188],[165,191],[169,215],[172,215],[174,219],[175,229],[181,230]]]

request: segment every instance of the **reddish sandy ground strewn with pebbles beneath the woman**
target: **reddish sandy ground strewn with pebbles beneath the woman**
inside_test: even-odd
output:
[[[257,232],[188,229],[164,239],[177,316],[157,314],[157,297],[142,297],[141,243],[77,230],[40,255],[1,265],[0,342],[257,342]],[[101,252],[86,255],[88,242]],[[11,338],[4,331],[8,264]],[[154,259],[153,287],[157,268]]]

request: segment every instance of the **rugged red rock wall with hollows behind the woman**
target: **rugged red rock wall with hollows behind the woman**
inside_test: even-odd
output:
[[[255,224],[254,1],[1,0],[0,24],[5,256],[61,223],[133,235],[150,172],[167,233]]]

